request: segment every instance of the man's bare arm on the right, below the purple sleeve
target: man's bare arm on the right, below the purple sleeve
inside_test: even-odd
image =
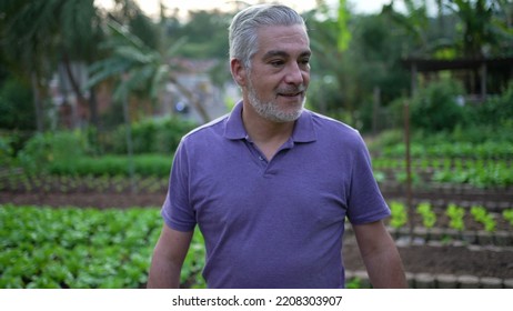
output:
[[[398,248],[382,221],[353,225],[373,288],[408,288]]]

